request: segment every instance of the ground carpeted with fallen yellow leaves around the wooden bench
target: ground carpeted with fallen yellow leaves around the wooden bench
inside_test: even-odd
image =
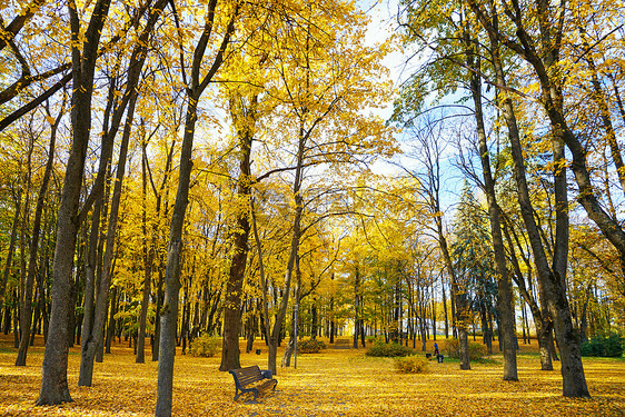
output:
[[[156,400],[157,364],[135,364],[123,342],[96,364],[93,386],[77,387],[79,350],[69,358],[73,403],[33,406],[41,378],[42,344],[29,353],[27,367],[14,367],[12,335],[0,335],[1,416],[151,416]],[[431,344],[431,341],[430,341]],[[329,345],[328,345],[329,346]],[[261,341],[256,354],[242,354],[241,365],[267,365]],[[369,358],[364,349],[328,348],[301,355],[297,369],[278,369],[277,391],[258,404],[234,401],[232,377],[218,371],[220,358],[178,355],[173,388],[176,416],[624,416],[625,360],[585,358],[589,399],[562,397],[559,369],[540,371],[536,347],[520,346],[518,383],[502,380],[500,357],[460,371],[445,359],[428,371],[404,375],[391,359]],[[244,349],[245,351],[245,349]],[[431,351],[431,348],[430,348]],[[423,355],[423,354],[421,354]],[[148,355],[147,355],[148,356]],[[291,364],[292,365],[292,364]],[[558,366],[558,364],[556,364]]]

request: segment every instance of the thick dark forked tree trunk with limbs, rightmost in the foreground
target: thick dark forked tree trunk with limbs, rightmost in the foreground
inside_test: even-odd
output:
[[[579,187],[579,201],[606,234],[608,239],[625,254],[625,232],[615,225],[614,220],[599,207],[595,193],[592,190],[591,179],[586,167],[585,151],[578,138],[568,128],[563,115],[563,86],[558,62],[562,51],[562,39],[564,31],[565,8],[558,7],[552,10],[542,0],[536,1],[539,40],[535,42],[527,31],[529,22],[523,19],[523,12],[517,2],[513,2],[514,11],[504,11],[510,18],[516,28],[516,42],[500,31],[497,10],[493,3],[478,3],[467,0],[468,6],[477,17],[480,24],[488,32],[493,52],[493,63],[496,73],[496,83],[503,90],[506,79],[499,54],[499,44],[504,43],[508,49],[526,59],[538,76],[542,99],[545,111],[552,123],[553,156],[554,156],[554,195],[556,200],[556,245],[553,265],[549,266],[540,235],[534,219],[529,192],[525,183],[525,168],[520,135],[514,115],[512,98],[504,92],[503,109],[508,135],[512,145],[513,159],[515,162],[515,178],[519,191],[519,205],[525,227],[529,235],[529,241],[536,264],[536,270],[542,285],[545,288],[549,312],[555,320],[555,332],[558,339],[558,348],[562,359],[563,395],[566,397],[588,397],[588,387],[584,376],[584,366],[579,354],[579,340],[571,318],[571,308],[566,296],[566,264],[568,254],[568,205],[566,198],[566,170],[563,165],[563,142],[572,151],[572,169]],[[489,8],[488,8],[489,7]],[[555,17],[550,13],[555,12]],[[539,47],[543,53],[536,49]]]

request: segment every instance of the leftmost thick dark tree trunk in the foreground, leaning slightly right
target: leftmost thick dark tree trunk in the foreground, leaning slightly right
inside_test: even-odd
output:
[[[69,155],[57,226],[57,245],[52,267],[52,311],[50,329],[43,354],[41,390],[37,405],[54,405],[71,401],[67,383],[68,365],[68,317],[73,305],[68,302],[71,294],[71,276],[76,237],[79,219],[78,203],[85,158],[91,129],[91,96],[93,73],[100,33],[107,19],[110,0],[98,0],[85,33],[82,53],[79,51],[80,23],[73,2],[68,7],[72,38],[73,96],[71,103],[71,126],[73,140]]]

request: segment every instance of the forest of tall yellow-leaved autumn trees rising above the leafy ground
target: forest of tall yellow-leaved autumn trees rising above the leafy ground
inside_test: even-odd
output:
[[[457,337],[463,369],[478,332],[507,380],[533,336],[589,395],[625,319],[621,3],[400,1],[373,36],[350,1],[0,6],[0,325],[18,366],[46,336],[38,404],[75,344],[91,386],[149,341],[168,415],[177,346],[228,370],[261,337],[278,373],[296,331]]]

